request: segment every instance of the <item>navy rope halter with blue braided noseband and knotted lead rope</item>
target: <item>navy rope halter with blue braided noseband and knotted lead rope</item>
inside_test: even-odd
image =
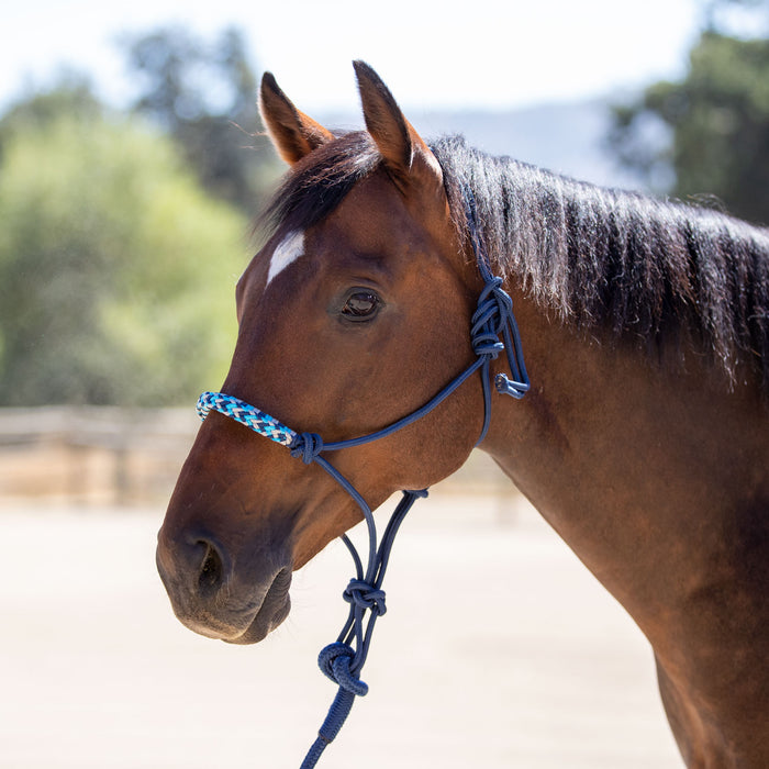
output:
[[[481,372],[484,409],[483,426],[478,438],[478,443],[481,443],[489,430],[491,419],[490,366],[491,361],[502,350],[506,353],[512,379],[504,374],[498,374],[494,378],[497,391],[519,399],[523,398],[528,391],[528,376],[523,361],[521,337],[513,314],[513,302],[502,289],[502,278],[494,277],[491,272],[489,258],[478,232],[475,198],[469,190],[465,191],[465,201],[472,246],[478,259],[479,271],[484,282],[483,290],[478,299],[478,309],[472,315],[470,328],[472,349],[477,358],[422,408],[376,433],[348,441],[324,443],[323,438],[316,433],[297,433],[264,411],[222,392],[204,392],[198,401],[198,414],[201,419],[204,420],[210,411],[219,411],[255,433],[288,447],[291,456],[300,458],[305,465],[311,462],[320,465],[355,500],[364,514],[368,527],[369,547],[365,570],[353,543],[346,535],[342,537],[353,556],[356,571],[355,578],[350,580],[343,594],[344,600],[349,603],[349,614],[336,642],[326,646],[321,651],[317,660],[321,670],[339,689],[323,725],[319,729],[317,739],[310,748],[301,769],[312,769],[317,764],[317,759],[325,747],[339,733],[353,707],[355,698],[363,696],[368,692],[368,686],[360,680],[360,670],[368,656],[377,617],[387,611],[382,581],[392,544],[398,528],[411,506],[417,499],[427,495],[426,490],[403,491],[403,497],[387,525],[381,543],[378,545],[374,515],[366,500],[321,454],[360,446],[402,430],[430,413],[478,370]]]

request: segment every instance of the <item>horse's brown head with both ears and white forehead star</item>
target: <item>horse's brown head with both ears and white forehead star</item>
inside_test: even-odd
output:
[[[339,136],[263,79],[261,115],[290,170],[237,283],[222,388],[325,442],[397,422],[466,367],[482,288],[436,158],[379,77],[363,63],[356,74],[366,131]],[[482,419],[473,379],[397,434],[335,453],[334,467],[375,509],[456,470]],[[360,517],[316,465],[211,413],[171,497],[158,569],[182,623],[254,643],[287,616],[291,572]]]

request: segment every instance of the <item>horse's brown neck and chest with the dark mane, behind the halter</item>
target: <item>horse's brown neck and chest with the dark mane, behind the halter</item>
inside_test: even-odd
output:
[[[681,744],[715,746],[714,756],[728,753],[724,745],[755,746],[755,724],[743,715],[766,712],[766,677],[755,671],[769,656],[769,333],[758,320],[769,317],[760,297],[769,234],[717,216],[703,227],[673,208],[676,242],[662,210],[643,199],[617,196],[612,210],[611,196],[591,191],[597,202],[586,211],[551,192],[528,198],[520,226],[508,213],[514,196],[499,196],[506,219],[492,254],[508,276],[532,387],[522,401],[494,395],[481,449],[645,633]],[[624,252],[623,218],[642,224],[637,247],[625,239],[633,247]],[[590,274],[608,264],[583,252],[597,245],[582,236],[591,221],[604,225],[603,243],[624,269]],[[726,249],[709,261],[714,232]],[[661,278],[649,283],[656,271]],[[623,291],[605,292],[621,280]],[[659,309],[655,285],[661,315],[648,311]],[[731,305],[751,293],[748,313]],[[709,327],[722,316],[729,322]],[[755,336],[743,334],[748,326]],[[765,350],[764,388],[756,367],[738,363],[753,350]],[[766,754],[759,746],[764,758],[745,766],[767,766]]]

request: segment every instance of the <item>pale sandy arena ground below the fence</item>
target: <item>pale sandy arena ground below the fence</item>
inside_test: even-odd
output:
[[[523,502],[437,494],[404,524],[356,702],[320,767],[667,769],[650,649]],[[2,503],[0,767],[297,768],[334,694],[315,667],[349,556],[296,576],[258,646],[174,618],[161,510]],[[383,524],[382,524],[383,525]],[[358,537],[360,542],[360,538]]]

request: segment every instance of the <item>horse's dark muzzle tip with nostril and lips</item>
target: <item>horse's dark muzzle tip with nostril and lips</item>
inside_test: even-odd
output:
[[[288,616],[290,562],[252,559],[236,570],[211,536],[170,538],[165,526],[157,569],[177,618],[191,631],[230,644],[255,644]]]

